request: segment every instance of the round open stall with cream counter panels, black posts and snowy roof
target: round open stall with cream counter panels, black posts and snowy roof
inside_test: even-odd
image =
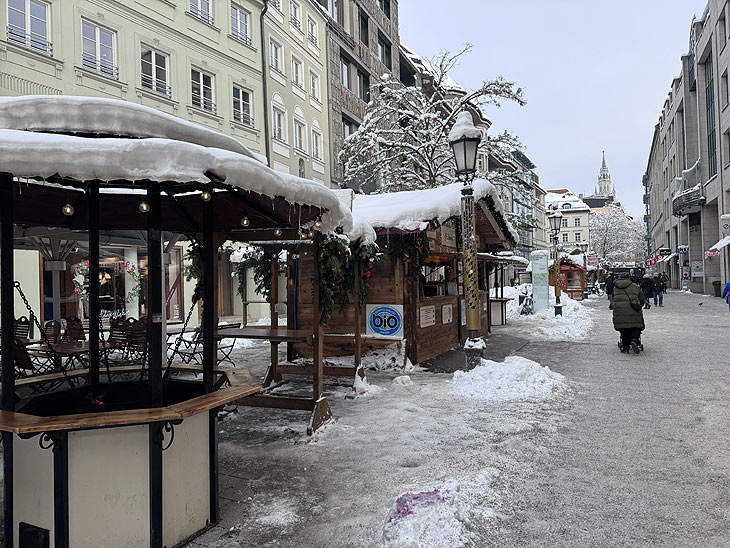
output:
[[[2,98],[0,128],[5,545],[182,545],[219,520],[218,412],[261,388],[245,363],[232,376],[216,367],[220,242],[291,238],[300,219],[325,232],[349,225],[349,213],[234,139],[128,102]],[[16,338],[16,231],[85,234],[85,341],[58,343],[40,326],[34,345]],[[116,231],[144,234],[149,272],[141,349],[123,368],[110,366],[100,329],[101,236]],[[201,250],[202,378],[169,375],[179,368],[165,336],[166,232]]]

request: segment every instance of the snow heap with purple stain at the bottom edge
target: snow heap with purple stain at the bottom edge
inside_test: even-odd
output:
[[[383,527],[384,548],[459,548],[478,541],[476,522],[492,519],[492,489],[499,475],[489,468],[474,478],[448,480],[398,497]]]

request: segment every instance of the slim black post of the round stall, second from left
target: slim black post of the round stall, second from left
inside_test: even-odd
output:
[[[91,181],[86,191],[89,210],[89,384],[99,384],[99,181]]]

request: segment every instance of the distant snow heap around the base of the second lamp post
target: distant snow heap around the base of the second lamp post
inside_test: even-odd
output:
[[[507,321],[515,325],[521,334],[529,334],[531,338],[548,341],[578,341],[587,336],[593,325],[589,308],[562,293],[560,303],[563,305],[563,315],[556,316],[553,309],[555,289],[550,287],[550,306],[546,310],[529,316],[521,315],[519,296],[525,290],[530,291],[531,284],[504,288],[505,298],[512,299],[507,303]],[[493,296],[494,291],[493,289]]]

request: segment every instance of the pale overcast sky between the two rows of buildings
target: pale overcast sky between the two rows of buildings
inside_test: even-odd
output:
[[[453,78],[503,76],[527,105],[487,112],[518,135],[545,189],[591,194],[601,151],[618,199],[642,216],[654,125],[706,0],[400,0],[401,41],[422,57],[473,45]]]

